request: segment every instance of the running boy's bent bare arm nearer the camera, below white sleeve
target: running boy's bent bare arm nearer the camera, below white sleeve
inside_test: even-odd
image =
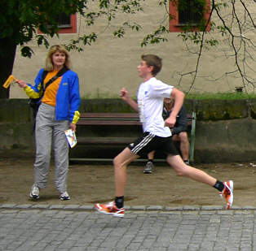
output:
[[[176,117],[179,114],[179,110],[183,106],[183,100],[184,100],[185,94],[179,89],[172,89],[170,93],[170,98],[174,99],[174,108],[170,113],[169,118],[165,120],[165,126],[169,128],[173,128],[174,124],[176,123]]]

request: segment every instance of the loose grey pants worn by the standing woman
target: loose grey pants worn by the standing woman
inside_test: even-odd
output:
[[[34,162],[34,184],[45,188],[51,160],[51,144],[55,154],[55,187],[59,193],[67,190],[68,141],[64,130],[68,120],[55,120],[55,107],[42,103],[38,110],[35,128],[36,159]]]

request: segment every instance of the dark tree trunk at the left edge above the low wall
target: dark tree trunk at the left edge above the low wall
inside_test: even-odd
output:
[[[11,75],[15,59],[16,45],[11,38],[0,39],[0,98],[9,98],[10,88],[5,89],[2,84]]]

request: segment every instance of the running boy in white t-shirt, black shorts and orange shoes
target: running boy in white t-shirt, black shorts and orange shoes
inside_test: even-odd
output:
[[[171,141],[170,128],[174,127],[176,116],[183,105],[184,93],[173,86],[157,80],[155,76],[161,71],[161,58],[154,54],[141,56],[141,62],[137,67],[139,77],[143,83],[139,85],[137,102],[130,98],[125,88],[120,91],[120,97],[134,110],[139,111],[140,122],[143,124],[143,136],[128,145],[113,159],[115,178],[115,201],[108,204],[95,204],[99,213],[113,214],[123,217],[125,214],[124,195],[126,186],[126,167],[140,156],[147,156],[152,150],[161,150],[166,153],[166,162],[179,176],[185,176],[192,180],[208,184],[218,190],[218,193],[227,203],[229,210],[233,202],[233,181],[222,182],[206,174],[204,171],[190,167],[183,162],[179,152]],[[174,99],[174,108],[169,118],[162,118],[163,99]],[[165,191],[163,191],[165,193]]]

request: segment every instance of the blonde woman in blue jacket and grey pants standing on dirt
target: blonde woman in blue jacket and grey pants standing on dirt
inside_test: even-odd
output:
[[[55,155],[55,187],[60,200],[70,199],[67,193],[68,141],[64,131],[68,128],[76,131],[80,96],[78,76],[69,67],[67,50],[62,45],[53,45],[47,54],[46,66],[38,72],[34,85],[16,81],[29,97],[42,96],[36,116],[34,182],[29,193],[33,199],[38,199],[40,189],[46,188],[51,147]],[[60,71],[64,72],[62,76]],[[48,85],[49,80],[51,84]]]

